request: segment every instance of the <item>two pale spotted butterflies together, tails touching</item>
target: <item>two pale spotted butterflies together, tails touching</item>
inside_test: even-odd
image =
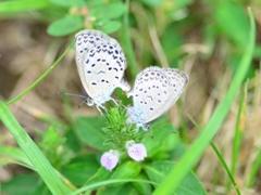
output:
[[[174,68],[148,67],[136,77],[134,88],[124,80],[126,58],[119,42],[98,30],[75,35],[75,61],[82,83],[88,93],[87,105],[97,108],[111,98],[115,88],[127,91],[134,105],[128,122],[149,129],[149,122],[166,113],[183,93],[188,76]],[[115,102],[115,101],[114,101]]]

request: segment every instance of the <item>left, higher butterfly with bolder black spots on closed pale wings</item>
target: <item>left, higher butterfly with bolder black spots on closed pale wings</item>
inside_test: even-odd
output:
[[[120,43],[98,30],[82,30],[75,35],[75,61],[80,81],[88,94],[86,104],[100,107],[112,100],[115,88],[129,91],[124,80],[126,58]]]

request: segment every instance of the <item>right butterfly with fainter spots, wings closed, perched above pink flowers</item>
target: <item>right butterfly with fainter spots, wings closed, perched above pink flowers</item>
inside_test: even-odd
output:
[[[134,105],[128,107],[129,123],[149,130],[149,122],[166,113],[181,96],[188,76],[175,68],[151,66],[139,73],[134,88],[127,93]]]

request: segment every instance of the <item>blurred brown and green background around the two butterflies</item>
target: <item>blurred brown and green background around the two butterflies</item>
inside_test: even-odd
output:
[[[151,65],[179,68],[189,75],[185,94],[165,116],[178,131],[175,135],[179,140],[178,146],[171,155],[178,161],[200,133],[191,118],[204,127],[226,94],[246,52],[250,28],[247,8],[252,10],[257,30],[254,52],[245,78],[247,84],[238,91],[213,142],[231,168],[241,194],[260,194],[259,0],[0,1],[0,99],[12,100],[38,79],[71,44],[77,31],[84,28],[102,30],[121,43],[128,62],[125,77],[129,83],[134,83],[137,73]],[[10,109],[52,166],[64,177],[77,178],[74,184],[78,186],[99,168],[99,155],[84,155],[86,151],[96,154],[97,147],[82,134],[88,125],[86,118],[91,121],[91,117],[99,116],[99,113],[95,106],[77,109],[82,100],[63,98],[59,95],[60,91],[83,92],[73,49]],[[120,91],[114,95],[123,99],[126,105],[130,104]],[[98,121],[98,127],[90,129],[102,127],[102,122]],[[83,130],[75,130],[76,123],[80,123]],[[235,129],[240,132],[239,136]],[[2,123],[0,134],[0,145],[3,146],[0,150],[17,146]],[[236,156],[233,144],[237,145]],[[7,158],[3,151],[1,154],[0,193],[1,188],[7,194],[49,193],[37,174],[13,165],[12,158]],[[92,169],[88,170],[89,167]],[[86,174],[72,176],[83,170]],[[194,171],[208,194],[236,194],[210,146]],[[35,187],[28,183],[36,183]],[[17,192],[10,191],[14,186]]]

